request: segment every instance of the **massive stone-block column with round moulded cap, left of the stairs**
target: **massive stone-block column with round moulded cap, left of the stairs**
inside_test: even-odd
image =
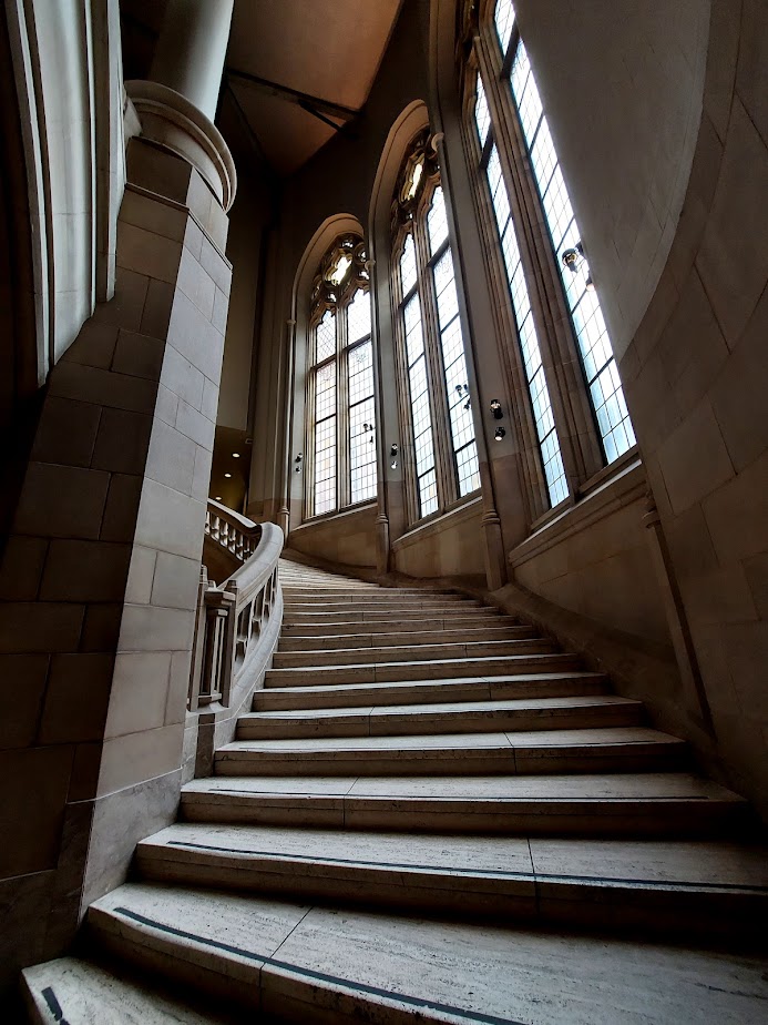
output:
[[[0,565],[0,678],[14,682],[0,727],[0,953],[17,952],[16,967],[60,955],[136,842],[173,821],[185,740],[194,750],[235,169],[188,93],[213,112],[232,0],[171,0],[173,17],[181,7],[201,9],[176,38],[194,43],[180,58],[188,91],[126,83],[114,297],[50,375]],[[213,10],[226,17],[208,32]]]

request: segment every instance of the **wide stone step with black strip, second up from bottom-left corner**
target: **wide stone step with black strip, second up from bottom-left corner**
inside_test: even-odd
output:
[[[606,943],[151,883],[101,897],[88,925],[101,948],[191,994],[301,1025],[747,1025],[768,1001],[759,954],[648,937]]]

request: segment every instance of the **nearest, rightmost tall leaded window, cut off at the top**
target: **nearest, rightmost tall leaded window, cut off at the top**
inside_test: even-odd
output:
[[[581,439],[596,438],[594,450],[605,465],[631,449],[635,435],[513,2],[489,0],[479,24],[473,23],[475,11],[468,3],[465,38],[473,41],[462,68],[471,148],[490,199],[549,501],[555,506],[598,468],[580,450]],[[542,221],[544,232],[537,230]],[[547,274],[555,266],[555,274]],[[536,316],[534,293],[543,294],[554,311],[562,307],[564,315],[559,318],[555,312],[549,322],[541,313]],[[565,352],[549,336],[552,319],[570,319]],[[557,394],[571,362],[580,367],[576,386],[585,396],[581,420],[578,403]]]

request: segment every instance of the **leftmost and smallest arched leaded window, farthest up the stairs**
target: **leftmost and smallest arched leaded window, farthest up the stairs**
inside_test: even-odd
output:
[[[307,515],[376,497],[373,351],[366,250],[336,240],[311,292],[307,402]]]

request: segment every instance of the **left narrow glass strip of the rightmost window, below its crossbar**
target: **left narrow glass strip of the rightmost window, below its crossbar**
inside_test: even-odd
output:
[[[499,151],[495,144],[491,148],[489,154],[485,175],[491,191],[493,212],[499,230],[499,237],[501,240],[501,251],[506,268],[506,281],[510,286],[514,319],[518,325],[518,338],[520,342],[521,355],[523,357],[525,380],[533,410],[533,420],[536,427],[536,437],[550,495],[550,504],[556,506],[567,497],[567,481],[565,479],[565,469],[560,451],[560,440],[552,415],[552,403],[550,400],[550,392],[546,386],[546,377],[542,365],[539,338],[536,337],[536,328],[533,322],[531,298],[525,282],[522,261],[520,258],[520,246],[512,221],[506,185],[502,176]]]

